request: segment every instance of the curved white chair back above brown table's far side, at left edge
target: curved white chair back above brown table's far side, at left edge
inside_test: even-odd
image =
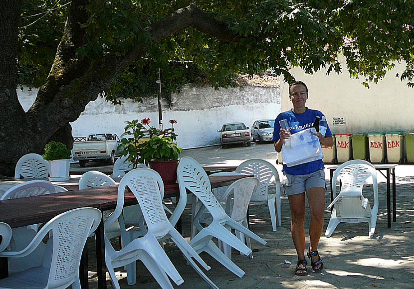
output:
[[[51,182],[46,180],[32,180],[15,185],[8,189],[0,197],[0,200],[53,194],[55,192],[56,189]]]

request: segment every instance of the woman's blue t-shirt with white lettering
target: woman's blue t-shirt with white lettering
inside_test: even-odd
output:
[[[316,116],[320,118],[323,117],[323,114],[317,110],[311,110],[306,108],[306,111],[301,114],[294,113],[293,110],[286,111],[280,113],[275,122],[274,122],[274,130],[273,130],[273,138],[272,140],[277,142],[279,141],[279,131],[280,131],[280,120],[287,120],[289,124],[289,129],[291,134],[295,134],[302,130],[306,130],[313,127],[315,123]],[[332,136],[331,130],[329,127],[326,129],[325,137]],[[309,174],[317,171],[320,168],[324,168],[324,164],[322,159],[314,160],[307,163],[302,163],[294,166],[287,166],[283,164],[283,171],[288,174]]]

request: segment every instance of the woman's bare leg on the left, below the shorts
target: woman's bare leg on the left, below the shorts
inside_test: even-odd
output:
[[[292,215],[292,240],[298,259],[305,259],[305,193],[288,195],[290,213]]]

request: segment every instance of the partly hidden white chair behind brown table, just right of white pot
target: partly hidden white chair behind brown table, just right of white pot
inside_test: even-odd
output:
[[[96,188],[101,186],[115,185],[116,182],[108,175],[103,172],[90,170],[82,174],[79,179],[79,189]],[[110,211],[104,211],[104,220],[111,214]],[[121,236],[121,230],[118,221],[113,222],[109,227],[105,226],[105,234],[108,239],[112,239]]]

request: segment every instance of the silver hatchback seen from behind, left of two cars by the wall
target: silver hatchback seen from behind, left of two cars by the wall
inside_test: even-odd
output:
[[[224,148],[226,144],[243,143],[247,146],[251,145],[249,128],[243,123],[224,124],[217,133],[220,133],[221,148]]]

